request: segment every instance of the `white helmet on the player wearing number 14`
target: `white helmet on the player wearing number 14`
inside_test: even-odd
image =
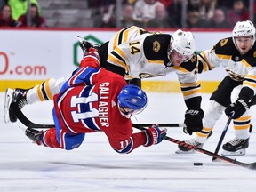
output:
[[[192,58],[196,49],[195,39],[191,32],[185,32],[180,29],[172,34],[171,42],[168,48],[168,58],[173,50],[179,52],[181,55],[188,56],[188,61]]]

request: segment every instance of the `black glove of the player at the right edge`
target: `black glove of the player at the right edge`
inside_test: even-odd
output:
[[[228,108],[225,109],[225,113],[227,116],[230,116],[231,113],[234,113],[232,119],[239,118],[240,116],[243,116],[244,112],[249,109],[248,102],[246,102],[243,99],[236,100],[235,103],[231,103]]]

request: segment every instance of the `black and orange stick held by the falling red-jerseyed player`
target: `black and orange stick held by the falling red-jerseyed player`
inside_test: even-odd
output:
[[[142,126],[134,126],[134,127],[139,129],[139,130],[145,130],[145,128],[142,127]],[[247,163],[243,163],[243,162],[239,162],[239,161],[236,161],[236,159],[231,159],[231,158],[228,158],[227,156],[220,156],[218,154],[214,154],[211,151],[205,150],[203,148],[197,148],[196,146],[189,145],[185,141],[176,140],[176,139],[173,139],[173,138],[168,137],[168,136],[165,136],[164,140],[169,140],[169,141],[171,141],[173,143],[176,143],[176,144],[178,144],[180,146],[184,146],[186,148],[196,150],[196,151],[198,151],[200,153],[203,153],[205,155],[208,155],[208,156],[214,156],[214,157],[216,157],[216,158],[218,158],[218,159],[220,159],[222,161],[226,161],[226,162],[231,163],[231,164],[236,164],[236,165],[239,165],[239,166],[247,168],[247,169],[256,170],[256,162],[248,163],[248,164]]]

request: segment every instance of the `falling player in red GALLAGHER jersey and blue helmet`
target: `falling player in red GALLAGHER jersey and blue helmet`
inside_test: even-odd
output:
[[[86,133],[104,132],[118,153],[161,142],[166,130],[157,125],[132,133],[130,117],[146,107],[146,93],[136,85],[127,85],[122,76],[99,68],[98,52],[89,50],[83,68],[77,68],[54,95],[55,127],[44,132],[28,128],[28,138],[38,145],[71,150],[81,145]]]

